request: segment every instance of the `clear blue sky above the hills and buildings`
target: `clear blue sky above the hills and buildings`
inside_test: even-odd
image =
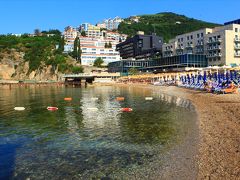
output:
[[[63,30],[109,17],[175,12],[216,23],[239,19],[240,0],[0,0],[0,34]]]

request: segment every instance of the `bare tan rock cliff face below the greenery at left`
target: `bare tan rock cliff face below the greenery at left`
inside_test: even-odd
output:
[[[35,71],[29,72],[29,62],[24,60],[24,53],[14,49],[0,52],[0,79],[4,80],[36,80],[61,81],[62,73],[52,65],[43,65]]]

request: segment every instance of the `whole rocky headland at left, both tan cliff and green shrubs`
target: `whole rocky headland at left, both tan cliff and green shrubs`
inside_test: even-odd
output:
[[[63,46],[61,33],[0,35],[0,79],[58,80],[63,73],[82,71],[75,59],[63,54]]]

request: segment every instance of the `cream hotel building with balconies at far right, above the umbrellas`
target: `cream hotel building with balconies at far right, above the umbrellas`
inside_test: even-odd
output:
[[[240,65],[240,25],[228,24],[213,29],[176,36],[164,44],[163,57],[204,54],[208,65]]]

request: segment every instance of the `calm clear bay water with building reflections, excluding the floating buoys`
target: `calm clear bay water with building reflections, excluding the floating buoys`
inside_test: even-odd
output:
[[[0,91],[0,179],[114,177],[162,156],[194,124],[189,101],[156,90],[33,86]],[[116,101],[118,96],[125,101]],[[146,96],[154,100],[145,101]],[[26,111],[14,111],[15,106]],[[49,112],[47,106],[59,111]],[[122,113],[123,107],[134,111]]]

